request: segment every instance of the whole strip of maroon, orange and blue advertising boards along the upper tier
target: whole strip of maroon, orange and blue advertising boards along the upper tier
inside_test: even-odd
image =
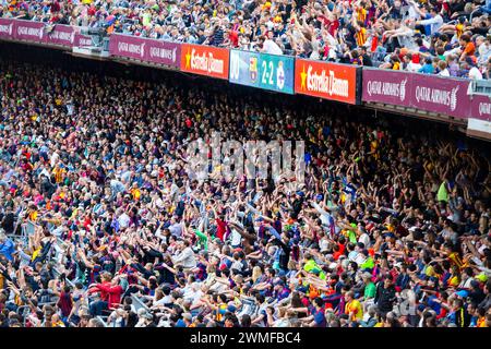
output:
[[[15,19],[0,19],[0,39],[62,47],[93,45],[92,37],[81,34],[80,27]],[[469,95],[470,82],[460,79],[367,68],[360,74],[361,68],[356,65],[121,34],[111,35],[109,51],[117,57],[180,68],[184,72],[286,94],[298,93],[348,104],[357,104],[361,98],[368,103],[462,119],[491,120],[491,99],[484,95]],[[362,85],[361,93],[358,84]]]

